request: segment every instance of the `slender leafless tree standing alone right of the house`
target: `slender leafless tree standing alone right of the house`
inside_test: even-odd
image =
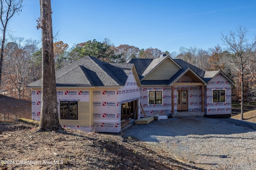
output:
[[[248,39],[246,39],[247,34],[246,27],[239,26],[236,28],[236,31],[230,31],[228,35],[222,35],[222,41],[224,45],[227,46],[228,51],[230,52],[232,58],[228,62],[232,67],[238,72],[239,79],[241,81],[241,120],[243,120],[243,109],[244,109],[244,80],[245,80],[245,72],[246,65],[250,59],[250,55],[252,53],[252,49],[256,46],[256,37],[251,43],[248,43]]]

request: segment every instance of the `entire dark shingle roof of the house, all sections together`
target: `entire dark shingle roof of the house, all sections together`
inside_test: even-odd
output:
[[[168,57],[168,56],[166,56]],[[166,57],[157,59],[131,59],[127,63],[109,64],[95,57],[86,56],[56,71],[56,86],[124,86],[134,64],[140,80],[152,71]],[[191,68],[206,82],[210,81],[218,71],[204,71],[182,59],[174,59],[182,68],[169,80],[142,80],[142,85],[170,84],[188,68]],[[40,87],[41,79],[30,84]]]

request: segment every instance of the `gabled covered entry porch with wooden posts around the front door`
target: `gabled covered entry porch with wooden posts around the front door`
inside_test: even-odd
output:
[[[188,68],[177,76],[172,87],[172,116],[204,115],[204,87],[207,83]]]

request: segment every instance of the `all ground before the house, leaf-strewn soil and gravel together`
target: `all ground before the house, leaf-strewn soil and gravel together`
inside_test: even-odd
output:
[[[14,118],[31,119],[30,101],[0,96],[3,113],[9,122],[0,120],[2,170],[256,169],[255,131],[217,119],[171,118],[118,134],[35,133],[38,122]]]

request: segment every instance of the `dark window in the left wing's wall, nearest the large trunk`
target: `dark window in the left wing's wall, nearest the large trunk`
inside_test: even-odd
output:
[[[60,101],[60,119],[78,120],[78,102]]]

